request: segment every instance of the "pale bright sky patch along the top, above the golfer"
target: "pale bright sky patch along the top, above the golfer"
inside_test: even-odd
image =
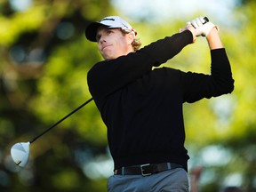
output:
[[[236,0],[111,0],[116,9],[131,20],[161,21],[188,18],[202,12],[223,22],[231,17]],[[204,16],[202,15],[202,16]],[[201,15],[198,15],[201,16]]]

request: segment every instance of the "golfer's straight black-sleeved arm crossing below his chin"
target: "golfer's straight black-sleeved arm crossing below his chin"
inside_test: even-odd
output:
[[[139,51],[131,52],[116,60],[97,63],[87,76],[94,100],[116,92],[124,85],[148,73],[153,66],[159,66],[170,60],[191,43],[192,34],[186,30],[148,44]]]

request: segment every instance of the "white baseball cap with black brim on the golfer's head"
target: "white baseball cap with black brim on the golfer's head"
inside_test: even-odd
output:
[[[89,41],[96,42],[97,30],[100,26],[105,26],[107,28],[122,28],[127,32],[133,32],[134,36],[137,32],[132,28],[132,26],[120,18],[119,16],[108,16],[100,21],[92,22],[85,28],[85,36]]]

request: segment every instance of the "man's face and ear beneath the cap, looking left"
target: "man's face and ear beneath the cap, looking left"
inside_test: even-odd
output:
[[[131,34],[124,35],[120,28],[100,27],[96,35],[99,51],[105,60],[114,60],[132,52],[132,38]]]

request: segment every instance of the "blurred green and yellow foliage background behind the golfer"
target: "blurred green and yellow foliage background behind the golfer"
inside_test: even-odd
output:
[[[94,102],[36,140],[26,168],[12,162],[10,148],[91,98],[87,72],[102,59],[84,28],[108,15],[128,20],[142,46],[200,15],[219,25],[235,91],[184,105],[188,167],[204,167],[200,191],[256,191],[256,3],[225,2],[0,0],[0,191],[107,191],[113,164]],[[165,66],[209,73],[207,46],[200,37]]]

